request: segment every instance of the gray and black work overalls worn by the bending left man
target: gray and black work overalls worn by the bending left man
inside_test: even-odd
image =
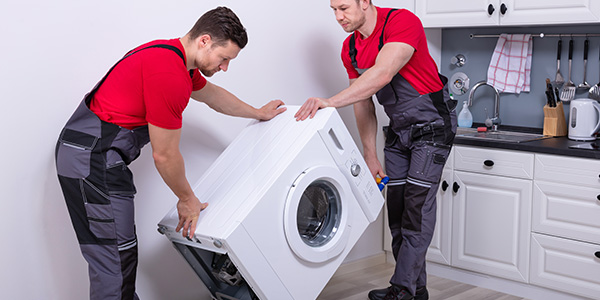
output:
[[[150,141],[148,126],[133,130],[100,120],[89,105],[119,60],[81,101],[56,145],[56,169],[81,253],[89,265],[90,299],[139,299],[133,175],[127,167]],[[185,60],[184,60],[185,64]],[[192,73],[190,72],[190,75]]]

